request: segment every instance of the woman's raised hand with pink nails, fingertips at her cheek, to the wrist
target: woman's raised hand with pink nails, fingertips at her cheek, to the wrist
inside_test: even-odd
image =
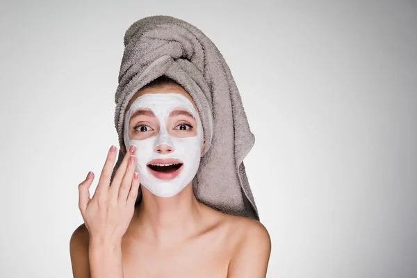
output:
[[[90,241],[99,243],[121,243],[133,217],[136,197],[139,190],[136,168],[136,147],[132,145],[120,164],[109,186],[117,148],[112,146],[104,163],[99,184],[90,199],[91,183],[94,174],[90,172],[79,184],[79,209],[85,227],[90,232]]]

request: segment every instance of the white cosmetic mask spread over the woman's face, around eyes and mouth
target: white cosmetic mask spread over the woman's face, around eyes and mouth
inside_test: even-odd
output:
[[[152,137],[133,140],[129,138],[129,120],[131,115],[140,108],[150,109],[155,117],[158,119],[159,132]],[[167,130],[167,120],[170,113],[175,110],[185,110],[191,113],[197,122],[197,126],[193,126],[193,129],[197,129],[197,136],[179,137],[172,136],[174,132],[176,135],[187,136],[186,130],[178,129],[178,126],[187,125],[175,124],[170,129],[176,129],[175,131]],[[183,117],[183,116],[181,116]],[[183,117],[186,120],[186,117]],[[149,126],[145,123],[135,121],[138,125]],[[135,127],[135,126],[132,126]],[[158,127],[158,126],[154,126]],[[132,130],[132,134],[143,132],[156,132],[151,131],[140,131],[140,127],[136,130]],[[190,183],[197,173],[199,162],[201,158],[201,148],[203,145],[204,134],[202,129],[202,122],[199,119],[199,115],[195,110],[193,103],[185,96],[178,93],[152,93],[145,94],[131,104],[129,111],[126,113],[124,118],[124,145],[126,149],[129,149],[131,145],[137,147],[136,157],[138,162],[136,163],[136,172],[139,173],[140,184],[145,186],[150,192],[159,197],[172,197],[177,195],[184,187]],[[163,152],[161,152],[163,150]],[[170,158],[167,159],[167,158]],[[152,165],[147,166],[151,161],[155,159],[166,159],[167,161],[154,161]],[[182,165],[178,170],[171,173],[163,173],[159,170],[168,169]],[[177,165],[164,166],[162,164],[176,163]],[[158,165],[156,165],[158,164]],[[157,170],[154,172],[154,170]],[[173,170],[174,170],[173,169]]]

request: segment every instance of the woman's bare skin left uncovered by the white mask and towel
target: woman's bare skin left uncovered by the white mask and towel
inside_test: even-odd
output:
[[[140,95],[155,92],[181,93],[193,103],[181,86],[164,86],[138,91],[129,106]],[[133,136],[130,130],[129,134]],[[93,177],[79,186],[84,224],[70,240],[74,278],[265,277],[271,245],[263,224],[198,202],[191,182],[170,198],[153,195],[142,186],[142,202],[134,206],[140,177],[135,179],[133,172],[135,156],[140,154],[126,152],[124,146],[122,152],[119,178],[110,187],[117,152],[108,153],[97,186],[101,195],[96,190],[88,200]],[[158,146],[158,152],[168,152],[167,146]],[[133,163],[128,163],[129,158]]]

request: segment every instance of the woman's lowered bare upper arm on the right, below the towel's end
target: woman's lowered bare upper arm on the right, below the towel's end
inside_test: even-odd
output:
[[[239,240],[229,263],[227,278],[265,278],[271,252],[268,231],[261,222],[245,225],[245,235]]]

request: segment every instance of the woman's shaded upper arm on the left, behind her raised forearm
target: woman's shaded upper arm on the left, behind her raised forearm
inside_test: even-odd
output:
[[[88,262],[88,245],[90,234],[85,224],[75,229],[70,238],[70,257],[74,278],[90,277],[90,264]]]

